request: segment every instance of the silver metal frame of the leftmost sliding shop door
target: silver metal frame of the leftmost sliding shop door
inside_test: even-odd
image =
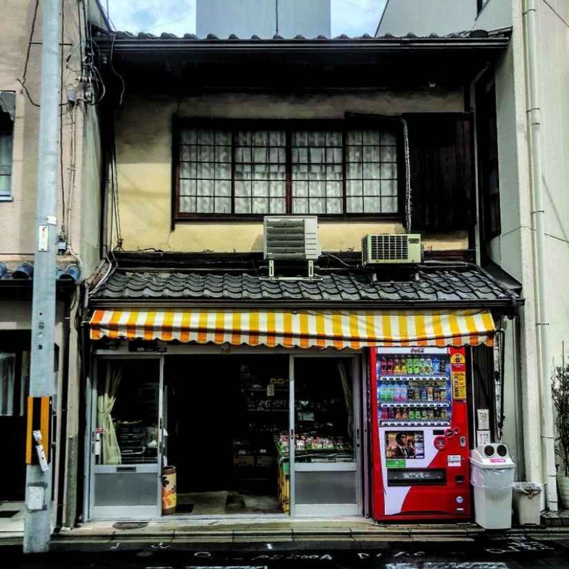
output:
[[[103,465],[95,464],[96,459],[96,417],[97,417],[97,387],[99,382],[99,362],[100,361],[117,361],[117,360],[155,360],[158,361],[159,367],[159,401],[158,401],[158,452],[156,463],[142,463],[135,465],[132,470],[127,465]],[[92,379],[87,382],[87,429],[86,429],[86,489],[85,489],[85,512],[86,519],[130,519],[130,518],[159,518],[161,517],[161,475],[163,463],[163,372],[164,358],[163,355],[157,353],[148,354],[132,354],[128,352],[114,352],[113,355],[96,355],[93,360]],[[154,506],[96,506],[94,503],[95,476],[118,472],[123,469],[125,475],[135,474],[152,474],[156,472],[156,501]]]

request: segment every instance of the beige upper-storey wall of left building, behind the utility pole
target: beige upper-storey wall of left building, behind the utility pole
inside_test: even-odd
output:
[[[0,260],[17,262],[32,260],[34,254],[34,232],[36,217],[36,195],[38,188],[38,137],[39,105],[41,99],[41,3],[35,19],[36,3],[32,0],[4,0],[0,19],[0,37],[5,46],[0,61],[0,90],[16,92],[16,114],[14,120],[14,150],[12,168],[12,201],[0,201],[0,227],[2,243]],[[81,6],[79,6],[81,8]],[[81,166],[83,163],[83,112],[85,103],[81,100],[80,59],[83,44],[79,43],[77,0],[64,0],[63,9],[63,87],[61,90],[61,165],[58,167],[57,227],[70,251],[82,263],[81,240],[86,239],[91,250],[97,248],[99,231],[92,221],[97,212],[99,191],[94,191],[99,178],[98,166],[88,170],[88,191],[81,190]],[[33,34],[32,34],[33,28]],[[32,41],[28,45],[28,43]],[[9,47],[8,47],[9,46]],[[29,47],[29,57],[27,58]],[[70,56],[70,59],[68,57]],[[26,74],[24,75],[24,70]],[[20,81],[25,83],[23,90]],[[77,90],[78,103],[66,104],[70,88]],[[96,134],[96,129],[93,129]],[[92,148],[99,143],[91,139]],[[90,161],[95,164],[96,160]],[[88,201],[81,207],[81,201]],[[90,221],[86,222],[86,215]],[[93,265],[91,251],[88,254],[87,270]],[[70,257],[68,262],[73,262]]]

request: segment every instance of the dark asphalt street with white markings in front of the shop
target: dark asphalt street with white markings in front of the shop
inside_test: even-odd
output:
[[[569,539],[502,535],[472,541],[319,543],[58,543],[43,554],[0,546],[3,569],[569,568]]]

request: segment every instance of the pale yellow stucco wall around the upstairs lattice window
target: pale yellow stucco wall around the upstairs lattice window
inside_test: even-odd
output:
[[[401,114],[463,110],[461,92],[337,93],[276,97],[218,94],[174,101],[167,97],[130,97],[116,114],[119,220],[124,250],[259,252],[263,250],[261,223],[184,221],[170,230],[172,115],[266,119],[341,119],[344,112]],[[112,223],[112,212],[110,222]],[[360,250],[368,233],[403,232],[401,223],[337,223],[319,219],[323,250]],[[117,245],[116,226],[109,229]],[[466,232],[445,237],[423,236],[432,249],[467,246]]]

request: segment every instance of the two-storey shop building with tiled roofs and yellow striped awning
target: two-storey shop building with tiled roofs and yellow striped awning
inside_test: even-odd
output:
[[[491,346],[523,305],[473,262],[468,92],[508,34],[94,34],[109,263],[82,305],[82,518],[170,513],[172,466],[181,515],[390,515],[401,463],[377,457],[401,437],[370,417],[396,413],[377,396],[397,370],[405,399],[398,381],[376,420],[408,425],[421,472],[443,461],[446,497],[404,517],[470,519],[472,417],[497,438]]]

